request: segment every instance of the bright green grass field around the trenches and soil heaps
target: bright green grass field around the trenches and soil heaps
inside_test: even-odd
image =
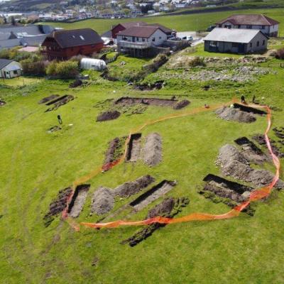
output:
[[[130,70],[145,63],[119,60],[126,61],[124,68]],[[112,63],[114,70],[119,70],[119,60]],[[283,192],[273,192],[267,200],[254,204],[253,217],[241,214],[230,220],[173,224],[134,248],[119,244],[136,231],[134,227],[75,232],[60,218],[48,228],[43,225],[58,191],[102,165],[108,141],[174,111],[149,107],[143,114],[122,114],[114,121],[98,123],[102,110],[95,104],[127,95],[175,95],[189,99],[191,104],[185,110],[190,110],[204,103],[229,102],[241,94],[250,99],[255,94],[257,99],[263,98],[261,102],[283,109],[284,70],[271,71],[275,74],[256,82],[210,82],[208,91],[202,88],[208,82],[177,79],[168,80],[159,91],[139,92],[125,82],[103,80],[98,73],[92,74],[92,84],[78,89],[69,89],[69,82],[62,80],[25,78],[25,86],[17,80],[1,83],[0,99],[7,104],[0,107],[0,283],[284,283]],[[38,101],[50,94],[73,94],[75,100],[45,113],[45,105]],[[47,133],[57,124],[58,114],[62,131]],[[273,126],[284,126],[283,119],[283,111],[273,111]],[[178,216],[224,213],[229,209],[225,204],[215,204],[197,193],[202,179],[208,173],[219,173],[214,161],[221,146],[239,136],[263,133],[265,128],[265,117],[253,124],[238,124],[218,119],[213,111],[149,126],[143,136],[153,131],[161,134],[163,162],[153,168],[141,162],[123,163],[89,180],[91,190],[77,221],[99,219],[89,215],[91,195],[97,187],[114,188],[146,174],[157,181],[178,181],[167,196],[190,198]],[[275,138],[273,132],[271,137]],[[120,200],[116,207],[125,202]],[[144,218],[153,204],[131,219]],[[94,258],[99,259],[97,266],[92,266]]]

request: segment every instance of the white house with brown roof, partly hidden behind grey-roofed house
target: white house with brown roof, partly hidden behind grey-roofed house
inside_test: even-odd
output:
[[[245,28],[260,30],[268,36],[277,37],[279,22],[262,14],[237,14],[216,23],[218,28]]]

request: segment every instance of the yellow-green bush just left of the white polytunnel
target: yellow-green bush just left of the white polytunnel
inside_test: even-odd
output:
[[[78,63],[72,60],[63,62],[53,61],[48,65],[46,74],[63,79],[72,79],[79,74]]]

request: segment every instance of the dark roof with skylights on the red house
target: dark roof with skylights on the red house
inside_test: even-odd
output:
[[[92,28],[54,31],[51,35],[48,35],[48,38],[54,38],[61,48],[104,43],[102,38]],[[43,45],[45,45],[45,42],[43,42]]]

